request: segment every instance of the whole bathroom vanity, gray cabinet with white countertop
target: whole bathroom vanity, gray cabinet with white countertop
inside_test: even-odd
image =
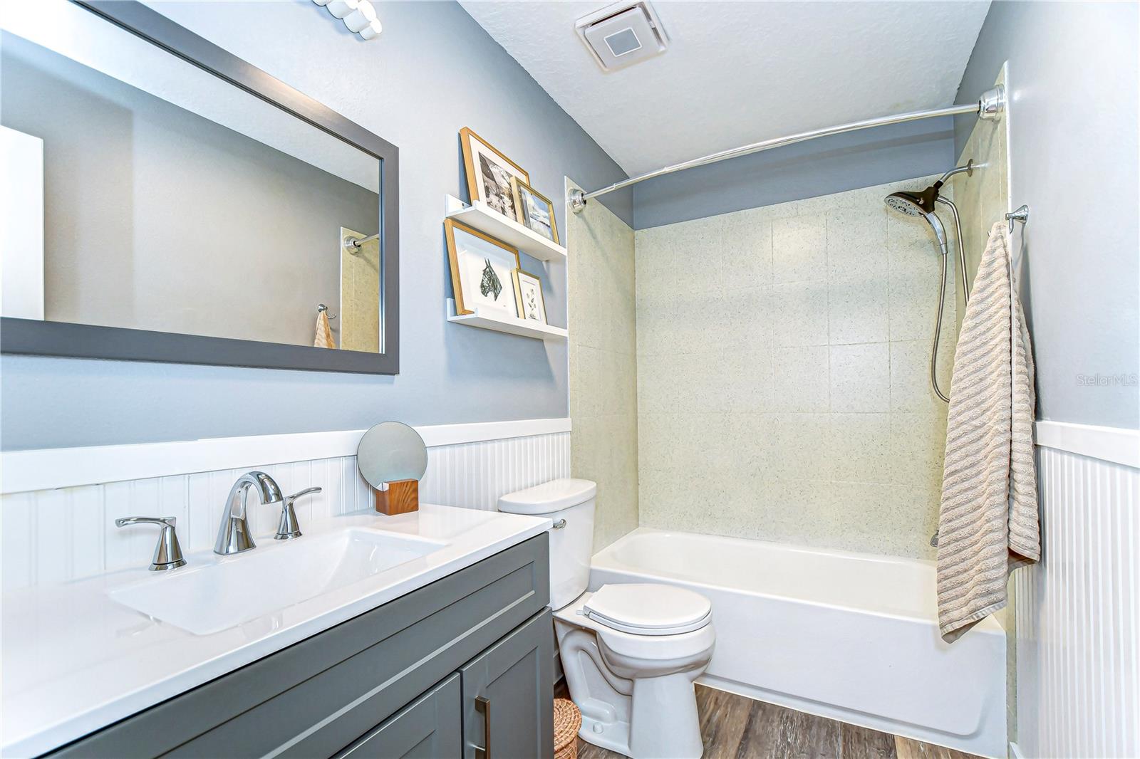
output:
[[[43,605],[26,638],[5,639],[6,670],[16,664],[5,674],[5,756],[551,756],[549,521],[439,506],[329,521],[335,524],[306,536],[310,545],[345,530],[393,540],[415,532],[439,545],[206,635],[113,601],[123,587],[177,590],[171,580],[194,569],[194,556],[168,577],[129,573],[125,586],[122,578],[96,578],[62,587],[54,598],[11,599],[6,622],[27,612],[26,604]],[[302,544],[295,542],[261,544],[215,565],[198,557],[207,565],[197,571],[249,562],[260,550],[290,556],[285,552]],[[303,561],[301,552],[294,555]],[[331,574],[345,566],[342,561]],[[406,590],[409,583],[416,587]],[[74,599],[70,610],[59,606],[62,596]],[[88,612],[96,619],[84,621]],[[68,614],[70,634],[54,623]],[[71,635],[74,646],[40,646],[36,629],[57,640]],[[109,652],[81,664],[100,642]],[[48,662],[42,652],[49,646],[64,651],[64,661]],[[30,676],[41,656],[47,671],[36,682]],[[162,697],[171,691],[178,693]]]

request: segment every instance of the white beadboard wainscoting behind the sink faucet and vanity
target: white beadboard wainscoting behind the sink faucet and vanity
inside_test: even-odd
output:
[[[569,476],[569,419],[418,429],[429,444],[420,498],[424,503],[494,509],[503,493]],[[361,432],[272,435],[272,444],[263,447],[262,459],[255,452],[259,441],[267,442],[261,438],[161,443],[157,448],[163,456],[156,456],[156,447],[152,446],[108,447],[115,449],[114,456],[101,448],[5,454],[5,495],[0,496],[2,587],[13,590],[145,566],[154,552],[157,531],[145,524],[119,529],[114,521],[121,516],[176,516],[182,550],[209,550],[230,487],[250,470],[269,473],[285,495],[312,485],[323,488],[296,501],[302,530],[312,520],[368,508],[373,504],[372,490],[357,471],[356,456],[327,456],[345,449],[355,451]],[[311,435],[325,436],[327,444],[320,452],[326,456],[302,460],[301,451],[314,450],[308,444],[314,440]],[[147,452],[136,451],[142,460],[135,464],[109,465],[114,458],[129,457],[129,449]],[[166,459],[166,455],[176,457]],[[210,464],[213,468],[201,471],[186,460],[179,462],[178,455],[186,455],[197,466]],[[293,456],[298,458],[284,460]],[[42,475],[31,470],[49,470],[76,457],[88,462],[83,478],[87,482],[74,484],[72,472],[62,475],[68,478],[67,487],[18,488],[33,476],[42,482]],[[100,465],[92,464],[100,459],[108,466],[100,470]],[[234,466],[219,467],[220,460]],[[30,468],[19,473],[14,466]],[[100,472],[137,473],[139,467],[158,474],[97,481]],[[256,496],[250,497],[250,524],[258,540],[271,539],[280,506],[256,501]]]

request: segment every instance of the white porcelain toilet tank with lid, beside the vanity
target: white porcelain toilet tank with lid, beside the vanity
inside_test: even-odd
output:
[[[552,480],[499,498],[499,511],[554,520],[551,530],[551,607],[562,609],[586,591],[594,555],[594,497],[589,480]]]

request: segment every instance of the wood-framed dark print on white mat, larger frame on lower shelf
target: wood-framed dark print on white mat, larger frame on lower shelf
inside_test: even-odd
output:
[[[514,287],[519,251],[454,219],[443,221],[443,231],[455,312],[473,313],[472,309],[481,308],[520,317]]]

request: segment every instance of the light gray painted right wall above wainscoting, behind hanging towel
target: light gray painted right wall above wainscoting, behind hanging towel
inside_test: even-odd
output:
[[[994,2],[958,92],[977,97],[1009,60],[1010,191],[1031,209],[1021,300],[1044,419],[1140,426],[1138,15],[1134,2]],[[959,149],[971,126],[955,125]]]

